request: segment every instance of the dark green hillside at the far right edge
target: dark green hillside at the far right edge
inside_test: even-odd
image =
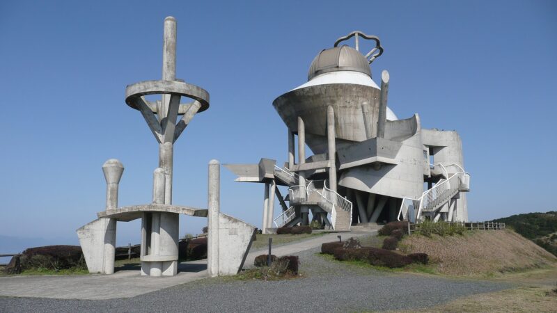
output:
[[[517,214],[493,221],[510,225],[517,233],[557,255],[557,211]]]

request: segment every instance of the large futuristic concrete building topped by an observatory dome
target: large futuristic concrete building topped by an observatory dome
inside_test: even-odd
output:
[[[354,48],[340,45],[350,38]],[[360,40],[375,47],[363,54]],[[315,56],[306,83],[273,102],[287,127],[288,161],[225,165],[238,182],[265,184],[263,232],[310,220],[338,231],[402,219],[468,220],[460,136],[422,129],[418,114],[397,118],[387,106],[389,72],[380,86],[371,77],[382,53],[376,36],[338,38]]]

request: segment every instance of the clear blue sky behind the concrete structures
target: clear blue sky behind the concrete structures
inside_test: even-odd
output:
[[[175,204],[206,207],[210,159],[283,163],[273,99],[361,30],[382,40],[373,77],[389,70],[398,117],[460,133],[471,220],[556,209],[557,1],[1,1],[0,236],[77,244],[110,158],[120,205],[150,202],[157,143],[124,91],[161,78],[168,15],[177,77],[211,97],[175,145]],[[234,178],[221,170],[221,211],[260,226],[263,186]],[[183,217],[180,233],[205,223]],[[119,223],[118,244],[139,227]]]

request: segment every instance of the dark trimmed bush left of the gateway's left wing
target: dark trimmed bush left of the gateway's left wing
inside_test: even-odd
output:
[[[45,246],[29,248],[19,258],[22,269],[85,268],[85,259],[79,246]]]

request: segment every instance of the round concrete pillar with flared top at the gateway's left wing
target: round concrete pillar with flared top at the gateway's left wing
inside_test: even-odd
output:
[[[106,209],[118,209],[118,184],[124,172],[124,166],[117,159],[109,159],[102,165],[104,180],[107,182]],[[104,232],[104,247],[102,255],[102,273],[114,273],[114,258],[116,257],[116,220],[108,218],[107,231]]]

